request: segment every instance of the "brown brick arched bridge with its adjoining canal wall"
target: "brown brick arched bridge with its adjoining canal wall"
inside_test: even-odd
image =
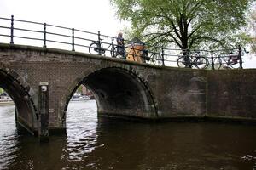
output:
[[[32,133],[40,82],[49,83],[49,132],[65,132],[67,105],[81,84],[94,94],[99,116],[256,120],[256,70],[179,69],[0,44],[0,87],[15,101],[16,121]]]

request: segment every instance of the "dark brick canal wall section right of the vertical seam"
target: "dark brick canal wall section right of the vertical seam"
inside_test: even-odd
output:
[[[256,120],[256,70],[207,71],[206,116]]]

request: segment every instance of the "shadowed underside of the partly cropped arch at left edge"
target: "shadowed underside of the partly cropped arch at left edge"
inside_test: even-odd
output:
[[[38,115],[29,89],[22,86],[15,71],[0,68],[0,88],[3,88],[15,102],[15,120],[32,135],[37,133]]]

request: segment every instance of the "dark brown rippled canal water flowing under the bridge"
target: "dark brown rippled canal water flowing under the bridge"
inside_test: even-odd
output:
[[[97,118],[89,100],[69,104],[67,136],[39,144],[1,106],[0,169],[256,170],[256,126]]]

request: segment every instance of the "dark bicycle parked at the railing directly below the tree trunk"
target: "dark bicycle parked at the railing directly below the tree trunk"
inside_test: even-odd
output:
[[[205,56],[199,53],[200,52],[195,52],[195,55],[191,55],[187,52],[187,54],[178,55],[177,66],[180,68],[192,68],[195,66],[197,69],[206,69],[209,65],[209,61]]]

